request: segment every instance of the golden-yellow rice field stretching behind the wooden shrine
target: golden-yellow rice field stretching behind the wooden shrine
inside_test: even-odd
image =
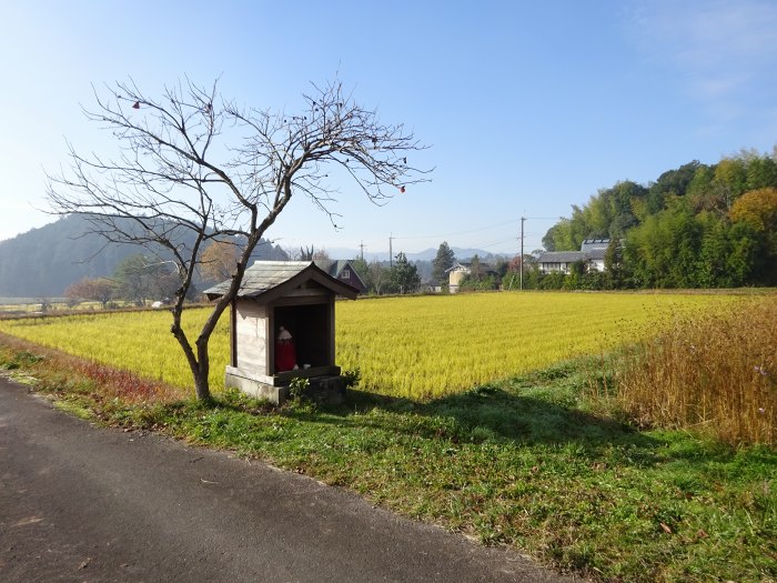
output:
[[[359,368],[366,391],[428,399],[598,354],[655,330],[668,314],[734,296],[644,293],[505,292],[339,302],[337,364]],[[188,334],[206,309],[185,313]],[[164,311],[0,320],[0,332],[191,386]],[[228,318],[211,339],[211,383],[223,388]]]

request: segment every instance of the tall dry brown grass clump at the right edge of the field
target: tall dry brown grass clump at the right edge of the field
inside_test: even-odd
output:
[[[618,399],[640,425],[777,443],[777,296],[679,318],[627,355]]]

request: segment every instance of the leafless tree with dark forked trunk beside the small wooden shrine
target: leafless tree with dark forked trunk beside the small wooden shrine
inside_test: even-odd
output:
[[[413,133],[383,124],[336,78],[312,86],[294,115],[224,101],[218,82],[206,88],[186,79],[161,98],[131,80],[107,92],[95,92],[95,108],[84,114],[115,137],[119,153],[81,155],[69,144],[70,170],[49,177],[51,212],[83,214],[108,241],[172,253],[181,285],[171,332],[203,401],[211,398],[211,334],[238,294],[251,253],[292,197],[306,197],[334,224],[330,167],[343,169],[377,204],[427,180],[427,171],[407,162],[424,148]],[[186,292],[204,247],[229,237],[244,241],[232,284],[192,342],[182,326]]]

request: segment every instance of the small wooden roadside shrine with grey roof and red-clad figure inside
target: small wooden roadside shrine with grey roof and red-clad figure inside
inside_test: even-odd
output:
[[[205,294],[220,298],[230,284]],[[312,261],[255,261],[230,309],[225,386],[282,403],[292,380],[305,378],[313,396],[341,401],[345,384],[334,363],[334,299],[357,293]]]

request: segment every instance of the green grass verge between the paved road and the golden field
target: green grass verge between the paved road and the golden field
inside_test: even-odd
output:
[[[426,402],[352,391],[339,408],[278,409],[233,391],[210,406],[128,401],[63,373],[53,353],[20,350],[0,340],[0,366],[18,363],[64,410],[263,459],[561,570],[601,581],[777,580],[777,452],[637,431],[591,400],[587,361]]]

